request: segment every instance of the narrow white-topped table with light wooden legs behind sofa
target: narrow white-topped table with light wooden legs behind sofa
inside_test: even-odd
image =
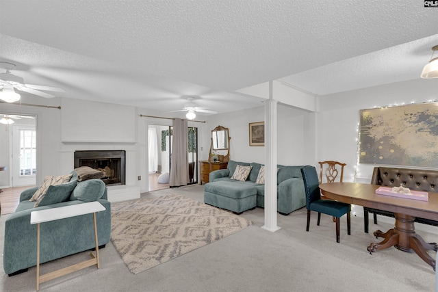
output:
[[[72,273],[73,271],[78,271],[79,269],[90,267],[92,265],[96,265],[97,269],[99,269],[99,243],[97,241],[96,212],[100,211],[105,211],[105,207],[103,207],[101,203],[88,202],[53,209],[33,211],[30,213],[30,224],[38,224],[36,233],[36,291],[40,290],[40,283],[53,280],[60,276]],[[92,258],[88,261],[83,261],[81,263],[71,265],[70,267],[64,267],[64,269],[58,269],[56,271],[52,271],[51,273],[40,275],[40,224],[90,213],[93,213],[96,254],[94,255],[91,252]]]

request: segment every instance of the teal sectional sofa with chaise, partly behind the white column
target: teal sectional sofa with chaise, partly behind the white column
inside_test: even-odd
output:
[[[246,181],[231,179],[237,165],[251,165]],[[242,213],[255,207],[265,207],[265,186],[255,183],[260,163],[229,161],[227,169],[209,174],[209,183],[204,186],[204,202],[215,207]],[[288,215],[305,207],[306,193],[302,181],[302,166],[277,165],[277,211]]]

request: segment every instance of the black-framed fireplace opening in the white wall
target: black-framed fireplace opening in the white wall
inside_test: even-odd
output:
[[[89,166],[105,174],[105,185],[125,185],[125,150],[75,151],[75,168]]]

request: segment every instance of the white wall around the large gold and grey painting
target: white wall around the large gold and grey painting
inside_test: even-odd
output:
[[[376,165],[357,165],[359,110],[438,100],[437,79],[417,79],[318,97],[316,160],[347,163],[345,181],[369,183]],[[438,168],[438,165],[437,165]]]

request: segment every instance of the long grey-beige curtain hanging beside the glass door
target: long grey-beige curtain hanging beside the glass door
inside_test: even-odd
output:
[[[189,183],[187,120],[173,120],[172,161],[170,161],[170,187]]]

